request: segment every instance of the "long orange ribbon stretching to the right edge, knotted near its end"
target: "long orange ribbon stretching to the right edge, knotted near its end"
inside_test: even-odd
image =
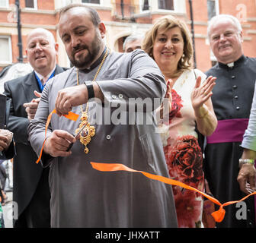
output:
[[[242,200],[245,200],[247,197],[250,197],[251,195],[256,194],[256,191],[254,191],[253,193],[247,195],[246,197],[243,197],[241,200],[234,200],[234,201],[229,201],[225,204],[221,204],[221,203],[219,203],[219,200],[217,200],[216,198],[211,197],[210,195],[205,194],[202,191],[197,190],[196,188],[190,187],[189,185],[186,185],[186,184],[182,183],[181,181],[176,181],[171,178],[163,177],[161,175],[152,175],[148,172],[142,172],[139,170],[130,169],[129,167],[124,166],[123,164],[119,164],[119,163],[94,163],[94,162],[91,162],[91,166],[92,166],[92,168],[97,169],[101,172],[115,172],[115,171],[139,172],[139,173],[142,173],[142,175],[145,175],[146,177],[151,178],[152,180],[162,181],[168,185],[178,185],[178,186],[180,186],[182,188],[186,188],[188,190],[197,191],[198,193],[202,194],[203,197],[210,199],[214,204],[217,204],[220,206],[219,210],[212,213],[212,216],[216,222],[222,222],[222,220],[224,219],[226,211],[223,209],[223,207],[228,206],[230,204],[238,203]]]

